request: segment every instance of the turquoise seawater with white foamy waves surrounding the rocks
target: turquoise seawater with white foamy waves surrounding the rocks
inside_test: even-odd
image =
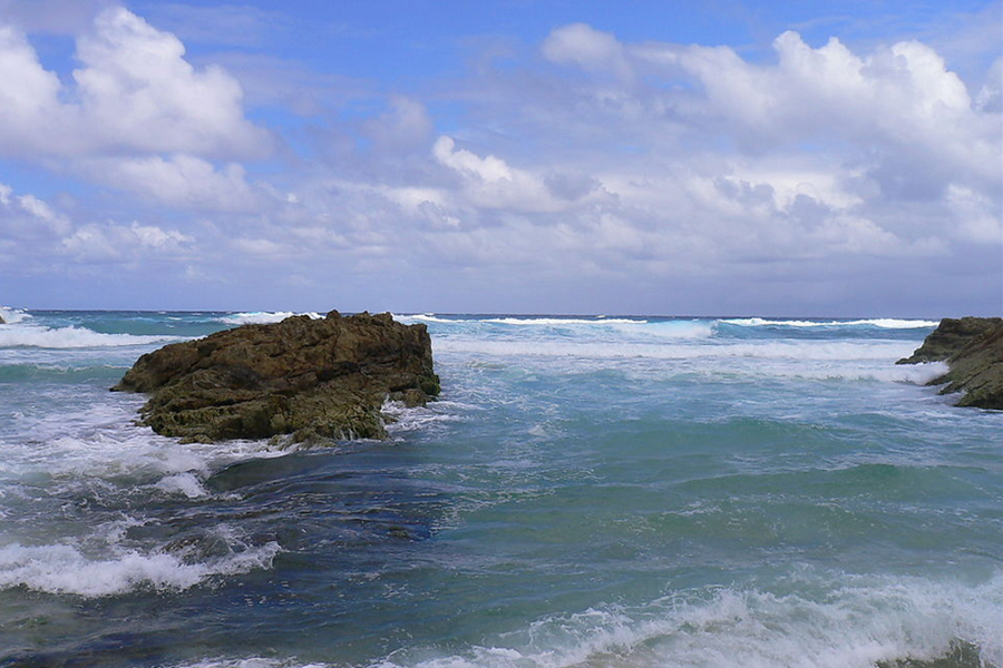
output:
[[[1003,413],[894,364],[934,322],[397,315],[441,400],[286,451],[108,387],[290,314],[0,315],[2,666],[1003,666]]]

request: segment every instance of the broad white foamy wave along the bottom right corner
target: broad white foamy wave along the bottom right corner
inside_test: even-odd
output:
[[[874,668],[934,660],[961,640],[986,665],[1003,661],[1003,580],[981,587],[919,578],[836,576],[822,596],[717,590],[625,608],[596,607],[538,620],[454,655],[409,648],[379,668]],[[816,588],[820,582],[807,582]]]

